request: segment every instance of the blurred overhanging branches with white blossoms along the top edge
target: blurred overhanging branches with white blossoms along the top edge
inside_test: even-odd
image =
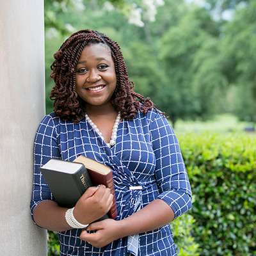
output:
[[[146,22],[154,22],[156,20],[157,8],[164,5],[164,0],[45,0],[45,29],[55,29],[62,35],[73,32],[70,24],[65,24],[59,19],[62,13],[68,9],[83,12],[87,6],[93,9],[103,8],[106,11],[116,10],[122,13],[129,23],[143,27]]]

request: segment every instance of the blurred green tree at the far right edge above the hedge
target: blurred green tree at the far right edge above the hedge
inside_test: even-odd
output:
[[[236,84],[235,113],[256,122],[256,2],[250,0],[237,8],[234,19],[223,30],[221,52],[223,73]]]

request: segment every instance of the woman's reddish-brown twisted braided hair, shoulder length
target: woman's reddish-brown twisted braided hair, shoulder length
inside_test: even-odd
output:
[[[129,81],[119,45],[102,33],[84,29],[72,34],[54,54],[51,77],[55,86],[52,88],[50,99],[54,100],[56,115],[62,120],[70,120],[75,124],[85,116],[83,100],[76,92],[76,65],[84,47],[90,44],[105,44],[111,49],[116,72],[116,89],[112,104],[117,111],[120,111],[122,118],[133,120],[138,111],[147,115],[149,109],[156,109],[150,98],[145,99],[132,90],[134,83]]]

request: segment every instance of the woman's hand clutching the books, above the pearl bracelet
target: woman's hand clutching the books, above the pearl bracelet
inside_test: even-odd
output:
[[[84,225],[92,223],[104,216],[112,204],[113,195],[109,188],[104,185],[88,188],[76,203],[74,217]]]

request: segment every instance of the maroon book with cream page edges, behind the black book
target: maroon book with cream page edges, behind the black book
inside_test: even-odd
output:
[[[77,157],[73,161],[73,163],[84,164],[95,186],[99,184],[104,184],[107,188],[111,190],[111,193],[113,194],[114,197],[113,197],[113,205],[110,211],[108,212],[108,215],[110,218],[115,220],[117,216],[117,210],[116,210],[115,188],[114,188],[114,182],[113,182],[113,172],[111,168],[93,159],[90,159],[89,157],[85,157],[83,155],[80,155],[79,157]]]

